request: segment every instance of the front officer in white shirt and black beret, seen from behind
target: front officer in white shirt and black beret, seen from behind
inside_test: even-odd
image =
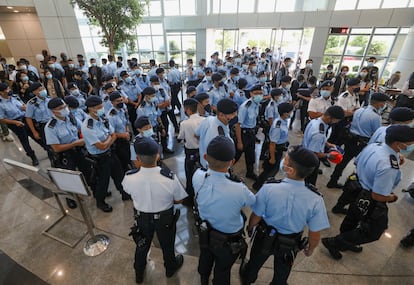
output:
[[[132,232],[137,244],[134,268],[136,282],[142,283],[154,232],[162,248],[165,275],[172,277],[183,265],[183,256],[174,253],[179,218],[179,212],[174,214],[174,204],[181,203],[187,194],[174,173],[157,166],[160,156],[153,139],[136,141],[134,148],[141,167],[127,172],[122,184],[131,195],[136,212],[136,228]]]

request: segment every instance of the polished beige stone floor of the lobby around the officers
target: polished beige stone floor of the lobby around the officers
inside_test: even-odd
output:
[[[165,163],[185,184],[182,146],[174,142],[173,134],[170,137],[170,145],[176,153],[167,157]],[[290,141],[297,144],[300,138],[292,133]],[[46,153],[34,143],[32,145],[41,160],[40,168],[49,167]],[[260,148],[259,144],[257,148]],[[0,142],[0,157],[30,164],[18,143]],[[235,169],[244,175],[243,158]],[[322,236],[328,236],[338,232],[343,216],[330,212],[340,190],[324,186],[333,169],[322,169],[323,174],[319,176],[317,186],[324,194],[331,223],[331,228],[324,231]],[[350,165],[345,174],[351,173],[352,169]],[[407,250],[399,246],[400,239],[414,227],[414,199],[401,192],[414,178],[413,161],[408,160],[402,170],[404,179],[396,190],[399,200],[389,205],[390,221],[386,234],[379,241],[364,246],[360,254],[344,253],[340,261],[331,259],[321,246],[309,258],[299,253],[289,284],[414,284],[414,249]],[[42,235],[42,231],[61,215],[49,190],[28,179],[27,173],[3,161],[0,162],[0,184],[0,250],[17,264],[50,284],[135,284],[132,266],[135,244],[128,236],[133,221],[132,202],[122,202],[112,183],[110,187],[113,195],[107,199],[114,207],[112,213],[97,210],[92,197],[84,199],[95,223],[95,232],[105,234],[111,240],[108,250],[96,257],[88,257],[83,253],[87,237],[84,236],[86,227],[79,210],[67,210],[68,216],[52,231],[70,242],[81,238],[74,248],[70,248]],[[247,180],[247,184],[251,186],[252,181]],[[154,240],[148,257],[145,284],[199,284],[197,236],[192,212],[183,206],[179,208],[181,217],[177,225],[176,250],[184,254],[184,265],[178,274],[166,279],[161,251]],[[245,209],[245,212],[250,213],[249,209]],[[3,262],[3,259],[0,261]],[[0,264],[0,267],[3,266]],[[269,259],[260,271],[256,284],[268,284],[273,274],[272,268],[273,262]],[[236,264],[233,267],[232,284],[239,284],[238,269],[239,265]],[[4,276],[0,276],[0,284],[34,284],[34,279],[32,283],[30,280],[27,283],[18,280],[17,276],[15,279],[9,276],[7,281]]]

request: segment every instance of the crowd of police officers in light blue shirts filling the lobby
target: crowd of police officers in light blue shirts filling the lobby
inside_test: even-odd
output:
[[[137,283],[144,280],[154,233],[163,249],[166,276],[182,266],[183,256],[174,253],[179,211],[173,205],[183,203],[194,209],[202,284],[208,284],[211,273],[213,284],[230,284],[230,270],[239,257],[242,283],[251,284],[270,255],[275,258],[271,284],[286,284],[297,253],[312,255],[320,231],[329,228],[316,188],[320,163],[339,162],[327,187],[343,188],[332,211],[346,214],[340,234],[322,239],[330,255],[339,259],[346,250],[361,252],[361,244],[379,239],[385,231],[387,203],[398,198],[393,190],[401,179],[400,165],[414,147],[414,113],[395,108],[389,115],[391,125],[381,127],[389,98],[376,92],[375,58],[364,69],[368,74],[356,78],[348,78],[344,68],[335,76],[330,65],[319,86],[311,59],[305,68],[294,70],[290,58],[279,61],[269,49],[260,54],[255,48],[227,52],[224,59],[215,52],[198,66],[189,59],[184,73],[173,60],[168,73],[152,60],[147,74],[136,59],[128,60],[126,67],[112,57],[109,61],[103,61],[99,72],[95,61],[92,71],[79,68],[71,82],[62,82],[61,96],[49,94],[47,83],[36,81],[23,101],[1,83],[0,123],[15,133],[33,165],[39,161],[29,136],[47,152],[53,167],[81,171],[102,211],[112,211],[105,201],[112,195],[110,178],[123,201],[133,200]],[[46,73],[50,77],[50,67]],[[99,86],[91,80],[97,74]],[[361,98],[361,82],[367,76],[372,90]],[[184,82],[187,99],[181,108],[178,96]],[[183,111],[180,124],[176,107]],[[303,141],[290,146],[288,133],[296,112],[301,124],[296,135]],[[164,155],[174,153],[168,147],[170,124],[184,143],[185,191],[162,163]],[[263,171],[256,175],[259,130],[264,134],[258,154]],[[255,195],[233,170],[243,153],[243,176],[254,182]],[[342,185],[338,180],[354,157],[355,173]],[[278,171],[282,180],[274,178]],[[67,203],[76,208],[75,201]],[[246,228],[244,207],[252,209]],[[246,233],[253,240],[248,262]],[[408,236],[403,245],[412,241]]]

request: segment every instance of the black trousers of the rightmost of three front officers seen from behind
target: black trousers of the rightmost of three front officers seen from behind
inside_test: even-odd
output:
[[[255,282],[260,268],[270,257],[271,254],[265,254],[262,252],[262,240],[259,242],[255,239],[252,249],[250,251],[250,260],[246,264],[245,271],[243,273],[246,281]],[[273,279],[270,282],[271,285],[286,285],[286,281],[292,270],[293,261],[295,260],[296,253],[292,250],[274,249],[274,264],[273,264]]]

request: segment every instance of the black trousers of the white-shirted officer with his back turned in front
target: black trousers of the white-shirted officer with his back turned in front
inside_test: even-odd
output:
[[[151,247],[154,233],[157,233],[157,238],[161,245],[164,267],[167,270],[173,270],[175,267],[174,243],[176,232],[173,208],[163,211],[158,217],[150,213],[140,213],[137,223],[147,241],[145,246],[137,246],[135,249],[135,271],[143,272],[145,270],[147,254]]]

